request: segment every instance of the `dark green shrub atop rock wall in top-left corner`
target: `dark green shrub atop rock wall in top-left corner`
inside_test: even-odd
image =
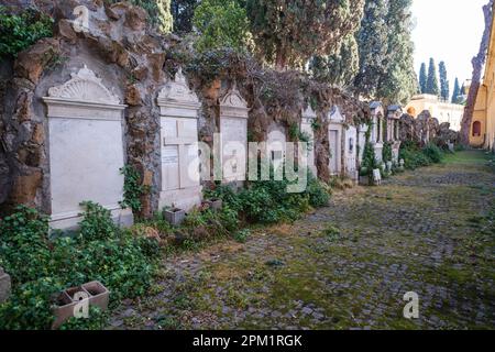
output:
[[[0,6],[0,58],[16,56],[42,37],[53,36],[53,20],[29,9],[20,14],[9,14]]]

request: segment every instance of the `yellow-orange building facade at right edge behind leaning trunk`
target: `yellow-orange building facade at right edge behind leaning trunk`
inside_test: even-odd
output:
[[[495,18],[492,22],[483,82],[476,96],[470,144],[495,151]]]

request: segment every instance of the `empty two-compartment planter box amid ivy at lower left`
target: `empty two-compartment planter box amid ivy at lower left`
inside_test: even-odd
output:
[[[79,302],[75,299],[75,295],[78,293],[88,295],[89,307],[95,306],[101,310],[108,309],[110,292],[100,282],[90,282],[78,287],[67,288],[61,293],[53,309],[55,321],[52,324],[52,329],[58,329],[64,322],[74,317],[74,310]]]

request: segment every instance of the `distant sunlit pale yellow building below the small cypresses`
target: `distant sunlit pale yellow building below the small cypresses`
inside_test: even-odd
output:
[[[418,95],[413,97],[406,107],[407,113],[415,119],[425,110],[428,110],[440,123],[449,122],[453,131],[461,130],[464,106],[442,101],[433,95]]]

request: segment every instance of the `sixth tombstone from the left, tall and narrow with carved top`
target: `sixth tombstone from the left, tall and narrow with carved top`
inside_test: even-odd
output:
[[[345,119],[339,107],[333,106],[329,112],[328,140],[330,143],[330,175],[342,173],[342,133]]]

